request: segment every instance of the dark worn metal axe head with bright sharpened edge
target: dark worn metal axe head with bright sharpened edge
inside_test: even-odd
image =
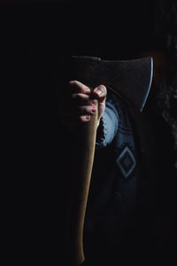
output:
[[[90,88],[103,84],[142,112],[150,92],[152,58],[109,61],[73,56],[71,66],[73,80],[87,84]]]

